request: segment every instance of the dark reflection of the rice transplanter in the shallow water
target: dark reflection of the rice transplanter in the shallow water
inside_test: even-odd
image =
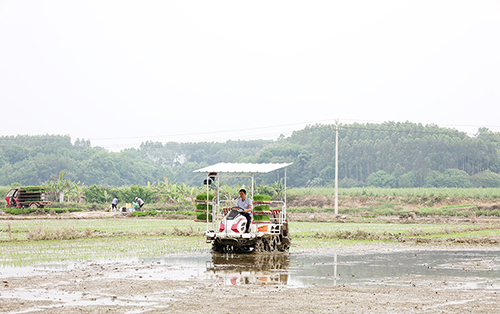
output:
[[[212,262],[207,265],[207,273],[220,285],[286,285],[289,267],[290,259],[287,253],[213,253]]]

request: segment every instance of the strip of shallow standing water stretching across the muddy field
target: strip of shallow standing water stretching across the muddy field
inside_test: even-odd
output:
[[[0,278],[68,271],[97,263],[120,271],[112,278],[148,280],[209,279],[218,285],[412,286],[500,288],[500,251],[406,250],[387,252],[292,254],[190,254],[137,260],[100,261],[0,268]],[[148,265],[137,268],[133,265]],[[129,267],[127,265],[130,265]]]

